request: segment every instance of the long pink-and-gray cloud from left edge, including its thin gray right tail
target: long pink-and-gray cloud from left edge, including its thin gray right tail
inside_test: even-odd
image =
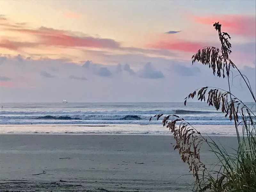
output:
[[[30,28],[26,23],[13,23],[9,20],[0,21],[0,27],[4,31],[12,31],[15,33],[26,34],[34,39],[34,42],[17,42],[10,40],[2,40],[0,38],[0,47],[9,50],[21,50],[26,47],[39,47],[47,49],[48,46],[55,46],[60,48],[107,48],[114,50],[122,50],[127,52],[140,52],[143,54],[156,54],[170,56],[167,50],[150,50],[135,47],[122,47],[121,44],[114,39],[95,38],[82,33],[76,33],[68,30],[59,30],[54,28],[40,27]],[[30,53],[31,54],[31,53]],[[173,54],[172,54],[173,56]]]

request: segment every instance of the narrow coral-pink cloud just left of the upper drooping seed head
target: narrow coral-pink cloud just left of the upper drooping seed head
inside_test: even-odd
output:
[[[184,51],[184,52],[196,52],[201,47],[205,46],[202,43],[190,42],[179,40],[176,42],[157,42],[156,44],[150,44],[149,47],[155,49],[165,49],[174,51]]]

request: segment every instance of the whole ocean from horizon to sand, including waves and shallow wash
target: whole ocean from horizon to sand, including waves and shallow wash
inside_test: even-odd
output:
[[[254,103],[247,103],[256,111]],[[204,102],[4,103],[0,133],[170,134],[156,114],[176,114],[206,134],[235,135],[233,122]]]

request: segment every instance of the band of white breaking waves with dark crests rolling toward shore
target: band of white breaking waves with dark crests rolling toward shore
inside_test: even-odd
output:
[[[151,116],[164,114],[158,121]],[[196,110],[0,111],[0,124],[161,124],[177,114],[195,124],[230,124],[221,112]]]

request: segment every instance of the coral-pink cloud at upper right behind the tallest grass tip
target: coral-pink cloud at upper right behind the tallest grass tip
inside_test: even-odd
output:
[[[220,22],[223,31],[230,35],[253,36],[256,37],[256,17],[255,15],[212,15],[193,16],[194,21],[202,24],[213,24]]]

